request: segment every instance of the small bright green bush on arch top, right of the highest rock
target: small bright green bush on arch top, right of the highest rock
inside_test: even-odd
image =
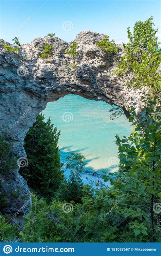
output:
[[[101,50],[110,52],[112,54],[117,54],[118,53],[118,47],[115,44],[114,40],[109,41],[109,36],[105,35],[104,40],[101,42],[98,42],[96,46],[100,47]]]

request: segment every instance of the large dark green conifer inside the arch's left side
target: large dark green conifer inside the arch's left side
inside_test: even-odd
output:
[[[29,164],[20,168],[20,174],[38,194],[52,198],[62,179],[57,146],[60,132],[53,129],[50,118],[47,122],[44,119],[39,114],[26,134],[24,148]]]

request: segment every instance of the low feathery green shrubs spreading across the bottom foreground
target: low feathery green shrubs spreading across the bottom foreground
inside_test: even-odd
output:
[[[116,192],[116,191],[115,191]],[[73,211],[63,211],[64,202],[52,201],[47,205],[41,198],[32,196],[32,208],[24,216],[25,226],[20,232],[23,242],[137,242],[133,236],[129,217],[120,214],[120,207],[142,205],[129,193],[98,190],[95,197],[85,196],[83,204],[73,204]],[[136,206],[137,210],[137,206]],[[139,210],[139,209],[138,209]],[[130,221],[129,221],[130,222]],[[145,226],[141,226],[146,231]],[[139,234],[140,242],[148,242],[151,234]]]

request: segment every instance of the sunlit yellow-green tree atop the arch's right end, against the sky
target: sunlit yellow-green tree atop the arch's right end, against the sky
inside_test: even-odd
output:
[[[147,86],[156,90],[160,87],[160,76],[157,69],[161,62],[161,55],[156,36],[158,29],[154,29],[152,20],[153,16],[144,22],[137,21],[133,28],[133,34],[128,27],[129,43],[123,44],[125,55],[118,64],[119,69],[116,73],[118,75],[132,73],[130,86]]]

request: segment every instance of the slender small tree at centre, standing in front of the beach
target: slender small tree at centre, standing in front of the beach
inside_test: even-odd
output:
[[[69,185],[67,191],[68,200],[74,200],[75,202],[81,202],[83,196],[83,182],[81,171],[85,166],[85,156],[78,153],[72,153],[67,157],[66,168],[70,169]]]

